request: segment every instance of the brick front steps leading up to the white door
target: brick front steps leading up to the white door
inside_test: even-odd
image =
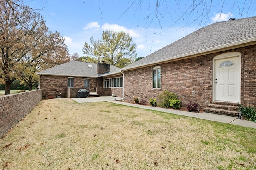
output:
[[[234,117],[239,115],[238,104],[236,103],[212,102],[212,104],[208,104],[208,107],[204,108],[204,112]]]

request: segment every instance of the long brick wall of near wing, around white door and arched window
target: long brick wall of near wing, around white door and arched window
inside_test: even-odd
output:
[[[232,51],[241,52],[241,103],[256,106],[256,45],[220,53]],[[125,71],[124,99],[132,101],[133,97],[138,97],[149,103],[150,98],[157,98],[163,90],[168,90],[177,94],[182,106],[192,101],[206,107],[212,101],[212,59],[220,53]],[[160,90],[152,89],[155,66],[161,67]]]

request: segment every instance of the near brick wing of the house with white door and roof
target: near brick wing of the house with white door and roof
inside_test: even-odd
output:
[[[256,17],[213,23],[121,71],[125,100],[168,90],[182,106],[237,115],[238,103],[256,106]]]

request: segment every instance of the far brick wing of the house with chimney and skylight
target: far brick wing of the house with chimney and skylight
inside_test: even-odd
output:
[[[78,97],[80,89],[100,96],[122,96],[122,73],[107,63],[70,61],[41,72],[42,98]]]

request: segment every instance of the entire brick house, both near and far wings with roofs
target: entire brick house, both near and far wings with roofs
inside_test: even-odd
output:
[[[206,112],[238,115],[238,104],[256,106],[256,17],[213,23],[122,69],[71,61],[37,74],[44,98],[88,88],[149,103],[168,90],[182,106],[192,101]]]

